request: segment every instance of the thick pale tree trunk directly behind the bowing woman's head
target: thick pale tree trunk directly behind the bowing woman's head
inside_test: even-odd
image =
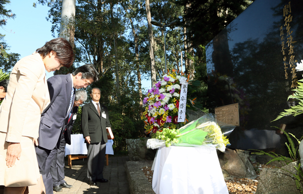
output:
[[[75,37],[75,14],[76,14],[76,0],[63,0],[61,11],[61,26],[59,37],[69,41],[72,47],[74,47]],[[73,68],[62,67],[60,70],[55,71],[55,75],[71,73]]]

